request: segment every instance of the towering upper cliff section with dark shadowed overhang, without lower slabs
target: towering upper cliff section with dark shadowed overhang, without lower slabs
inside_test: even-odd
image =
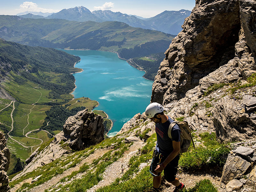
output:
[[[167,104],[183,98],[202,77],[234,58],[241,28],[239,2],[196,0],[182,28],[165,52],[151,102]]]

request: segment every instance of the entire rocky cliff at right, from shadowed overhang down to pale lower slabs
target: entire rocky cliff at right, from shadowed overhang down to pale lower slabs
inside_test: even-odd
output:
[[[255,10],[252,0],[196,1],[165,52],[151,101],[220,139],[255,138]]]

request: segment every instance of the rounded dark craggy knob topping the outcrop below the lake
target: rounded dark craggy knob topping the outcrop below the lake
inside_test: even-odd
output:
[[[63,125],[63,139],[70,148],[81,150],[104,140],[103,118],[88,109],[70,116]]]

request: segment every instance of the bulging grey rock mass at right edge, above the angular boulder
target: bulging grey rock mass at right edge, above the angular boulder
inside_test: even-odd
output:
[[[246,98],[250,98],[247,100]],[[252,102],[255,97],[244,95],[243,101]],[[256,98],[255,98],[256,99]],[[244,102],[239,102],[223,97],[213,109],[213,124],[216,134],[222,140],[244,140],[255,137],[256,116],[246,111],[248,106]],[[254,110],[256,106],[254,107]],[[253,109],[252,109],[253,110]]]

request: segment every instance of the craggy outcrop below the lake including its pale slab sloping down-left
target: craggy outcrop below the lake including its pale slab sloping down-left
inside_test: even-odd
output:
[[[26,160],[26,167],[12,180],[35,170],[45,164],[60,158],[70,149],[80,150],[88,145],[104,140],[103,118],[88,112],[88,109],[79,111],[75,116],[70,116],[63,125],[63,131],[37,150]]]

